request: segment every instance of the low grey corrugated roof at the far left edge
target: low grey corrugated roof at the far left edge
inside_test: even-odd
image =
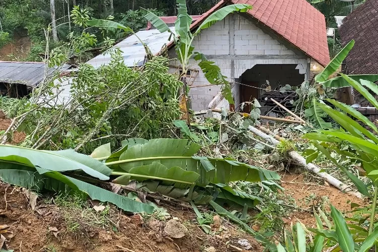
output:
[[[44,78],[46,64],[42,62],[13,62],[0,61],[0,82],[25,84],[36,87]],[[66,64],[60,71],[70,68]],[[56,68],[49,68],[47,75],[53,74]]]

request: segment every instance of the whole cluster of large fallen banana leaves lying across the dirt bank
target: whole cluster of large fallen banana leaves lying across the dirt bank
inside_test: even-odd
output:
[[[91,156],[73,150],[41,151],[0,145],[0,178],[8,183],[51,191],[87,193],[92,199],[108,201],[125,211],[151,213],[149,205],[106,191],[98,183],[125,186],[138,182],[138,190],[159,192],[170,198],[209,204],[213,195],[241,206],[253,207],[260,199],[234,190],[227,183],[279,179],[276,172],[232,159],[195,156],[200,145],[182,139],[129,139],[110,153],[105,144]],[[101,162],[102,161],[102,162]],[[115,178],[114,178],[115,177]],[[196,187],[196,191],[194,188]]]

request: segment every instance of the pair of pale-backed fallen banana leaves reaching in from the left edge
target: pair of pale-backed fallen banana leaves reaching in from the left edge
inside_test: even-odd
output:
[[[154,207],[114,194],[88,181],[109,179],[111,169],[73,150],[41,151],[0,145],[0,180],[32,190],[81,191],[128,212],[152,213]],[[83,179],[84,178],[84,179]]]

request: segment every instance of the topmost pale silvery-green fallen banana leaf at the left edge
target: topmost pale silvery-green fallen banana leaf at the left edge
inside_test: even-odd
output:
[[[82,170],[102,180],[109,179],[110,175],[110,169],[104,164],[73,150],[53,152],[0,145],[0,162],[18,163],[32,168],[40,167],[59,172]]]

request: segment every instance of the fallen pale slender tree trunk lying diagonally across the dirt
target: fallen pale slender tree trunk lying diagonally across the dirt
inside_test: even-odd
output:
[[[255,135],[265,139],[267,142],[269,142],[269,143],[271,143],[275,146],[280,143],[280,141],[278,141],[275,138],[265,134],[262,131],[259,131],[258,129],[256,129],[252,126],[249,126],[248,130],[250,132],[254,133]],[[339,179],[331,176],[330,174],[328,174],[326,172],[321,172],[321,168],[319,168],[317,165],[314,165],[312,163],[306,164],[306,159],[304,157],[302,157],[298,152],[291,151],[291,152],[289,152],[289,156],[293,159],[293,161],[298,163],[300,166],[303,166],[305,169],[307,169],[307,170],[309,170],[313,173],[316,173],[320,177],[323,177],[329,184],[332,184],[333,186],[335,186],[339,190],[344,191],[345,193],[347,193],[349,195],[353,195],[357,198],[362,199],[362,195],[360,193],[354,192],[351,188],[349,188],[348,185],[345,185]]]

